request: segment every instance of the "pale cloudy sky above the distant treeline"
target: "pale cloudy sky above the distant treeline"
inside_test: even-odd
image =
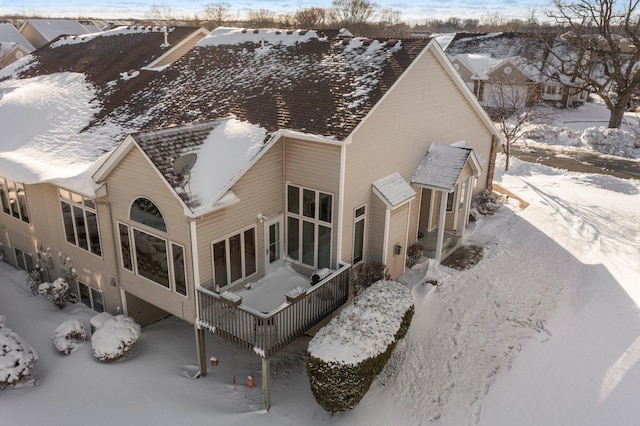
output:
[[[47,17],[91,16],[97,18],[144,18],[152,5],[169,7],[176,16],[193,16],[215,0],[171,1],[171,0],[0,0],[0,16],[13,14],[43,15]],[[249,10],[268,9],[276,13],[291,12],[308,7],[330,7],[331,0],[235,0],[232,12],[240,18]],[[420,23],[426,19],[446,19],[451,16],[477,18],[499,13],[505,17],[525,18],[536,6],[546,7],[550,0],[376,0],[380,8],[392,8],[401,13],[405,22]]]

